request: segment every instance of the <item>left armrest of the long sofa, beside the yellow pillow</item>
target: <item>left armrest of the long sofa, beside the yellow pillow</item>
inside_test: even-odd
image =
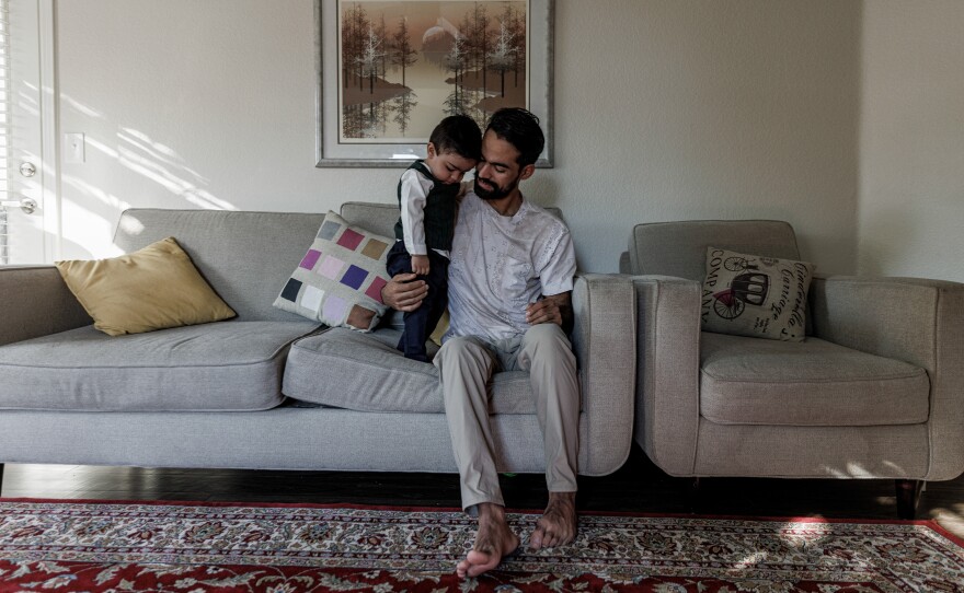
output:
[[[93,323],[54,266],[0,267],[0,346]]]

